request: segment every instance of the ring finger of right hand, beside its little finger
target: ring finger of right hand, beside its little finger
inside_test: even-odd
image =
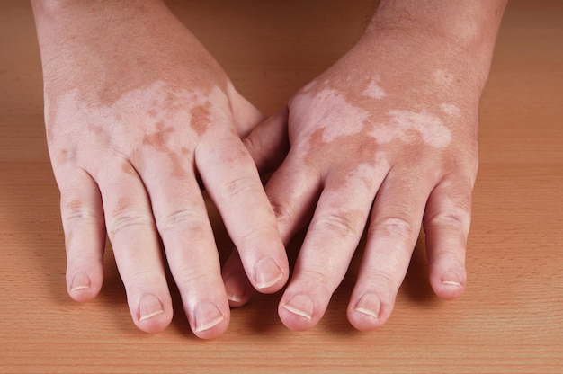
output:
[[[431,189],[424,175],[391,169],[378,191],[347,313],[359,330],[383,325],[393,309]]]

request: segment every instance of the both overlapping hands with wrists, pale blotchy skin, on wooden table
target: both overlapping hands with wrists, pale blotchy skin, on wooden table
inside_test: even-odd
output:
[[[309,220],[279,307],[291,329],[323,316],[365,227],[354,327],[389,318],[423,224],[435,293],[461,295],[504,1],[381,2],[362,40],[256,128],[260,112],[162,2],[32,4],[72,298],[99,292],[107,232],[140,329],[172,318],[166,258],[192,331],[216,337],[229,304],[285,285],[284,245]],[[280,165],[265,191],[256,165]],[[198,177],[237,246],[222,278]]]

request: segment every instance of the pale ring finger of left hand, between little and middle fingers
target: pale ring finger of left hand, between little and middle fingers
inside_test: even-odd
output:
[[[173,310],[147,191],[127,161],[105,165],[96,179],[131,316],[141,330],[161,331]]]

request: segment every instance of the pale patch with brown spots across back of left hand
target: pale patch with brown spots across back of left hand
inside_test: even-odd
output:
[[[147,157],[156,151],[168,158],[174,176],[184,178],[187,166],[183,165],[186,160],[190,164],[192,142],[201,138],[211,123],[228,123],[217,109],[226,100],[219,87],[209,92],[177,89],[164,81],[122,94],[108,105],[84,102],[73,90],[47,108],[49,149],[56,165],[71,163],[86,169],[94,167],[96,158],[116,153],[129,159],[140,174],[145,171]],[[62,126],[68,123],[62,118],[71,118],[76,125]],[[67,138],[76,142],[75,151],[68,148]]]

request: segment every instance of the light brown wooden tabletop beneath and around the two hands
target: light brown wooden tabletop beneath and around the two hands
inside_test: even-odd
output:
[[[240,91],[271,112],[353,44],[373,6],[172,7]],[[142,333],[111,255],[99,298],[72,301],[41,100],[31,6],[3,0],[0,372],[563,372],[563,2],[513,1],[506,10],[481,103],[465,295],[433,296],[419,245],[394,314],[371,333],[345,318],[353,273],[320,325],[304,333],[281,325],[280,295],[262,296],[233,310],[227,334],[204,342],[190,332],[177,294],[172,325]],[[227,243],[220,229],[218,241]]]

